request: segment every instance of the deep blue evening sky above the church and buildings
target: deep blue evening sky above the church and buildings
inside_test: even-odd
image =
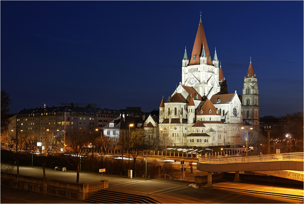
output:
[[[1,90],[23,107],[158,108],[181,81],[199,12],[229,93],[252,64],[260,116],[303,110],[303,1],[1,1]]]

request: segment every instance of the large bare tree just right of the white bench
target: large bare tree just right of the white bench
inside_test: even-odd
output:
[[[66,135],[57,139],[63,149],[63,158],[77,169],[76,183],[79,183],[81,161],[88,158],[94,134],[85,127],[66,126]]]

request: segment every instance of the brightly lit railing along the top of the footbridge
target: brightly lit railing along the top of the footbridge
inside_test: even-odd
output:
[[[303,152],[253,156],[199,156],[201,164],[236,164],[269,161],[304,161]]]

